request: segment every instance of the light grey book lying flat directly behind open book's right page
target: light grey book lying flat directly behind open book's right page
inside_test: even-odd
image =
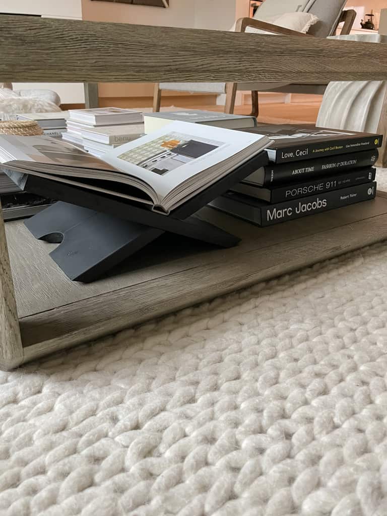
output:
[[[256,118],[252,116],[229,115],[227,113],[201,111],[199,109],[144,113],[143,117],[145,134],[157,131],[174,120],[212,125],[214,127],[224,127],[225,129],[247,129],[256,126]]]

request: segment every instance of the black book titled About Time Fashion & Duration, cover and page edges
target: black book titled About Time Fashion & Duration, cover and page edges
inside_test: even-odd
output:
[[[340,174],[356,168],[372,167],[377,162],[379,152],[370,151],[338,154],[337,156],[302,159],[299,162],[275,165],[270,162],[265,167],[257,169],[243,182],[255,186],[273,187],[291,182],[320,178],[321,176]]]

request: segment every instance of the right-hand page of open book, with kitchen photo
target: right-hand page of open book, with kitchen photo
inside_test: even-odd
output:
[[[172,122],[104,154],[104,161],[148,183],[162,200],[170,191],[222,163],[262,135],[188,122]]]

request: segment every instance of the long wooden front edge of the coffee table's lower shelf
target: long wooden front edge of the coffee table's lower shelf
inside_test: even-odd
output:
[[[380,197],[379,201],[387,210],[387,200]],[[370,201],[367,204],[375,203]],[[336,217],[337,214],[336,210]],[[325,214],[320,215],[324,218]],[[311,217],[314,218],[321,219],[320,216]],[[284,225],[288,232],[292,232],[293,222]],[[384,213],[276,245],[241,251],[234,256],[222,256],[222,251],[219,251],[218,259],[205,266],[197,263],[195,267],[140,282],[130,288],[121,288],[114,293],[24,317],[20,325],[25,337],[25,361],[373,244],[386,237],[387,213]]]

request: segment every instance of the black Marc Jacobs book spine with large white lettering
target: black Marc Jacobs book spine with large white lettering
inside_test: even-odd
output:
[[[314,195],[303,199],[286,201],[268,206],[255,208],[260,211],[261,225],[268,226],[298,219],[307,215],[325,212],[329,209],[340,208],[349,204],[374,199],[376,196],[376,182],[342,188],[322,195]]]

